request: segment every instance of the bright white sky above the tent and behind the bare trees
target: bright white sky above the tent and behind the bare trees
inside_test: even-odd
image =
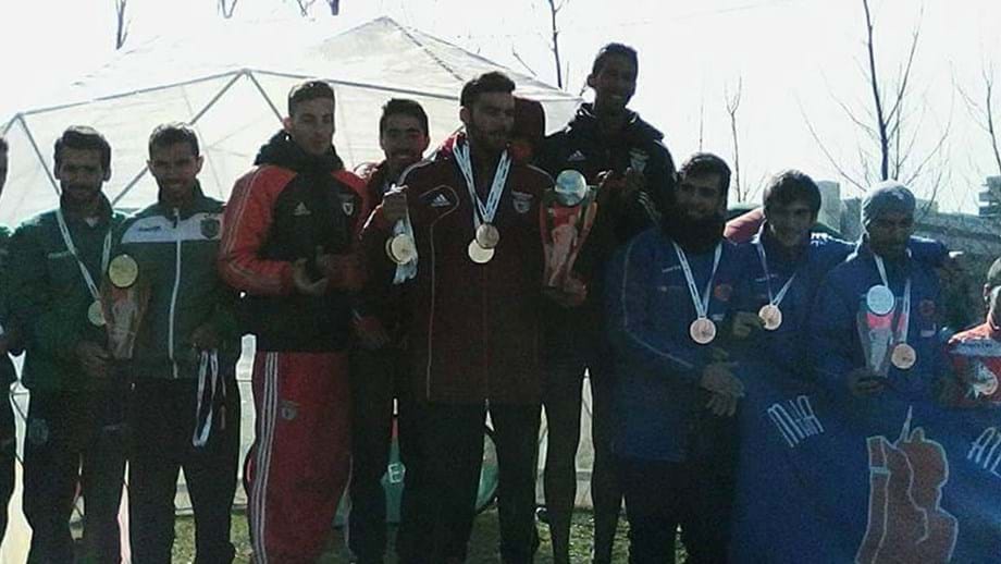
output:
[[[920,158],[948,125],[944,150],[927,170],[943,171],[949,179],[938,194],[942,208],[973,211],[984,176],[999,171],[986,134],[954,84],[983,97],[981,66],[1001,54],[1001,3],[872,3],[878,64],[888,78],[920,23],[905,126],[909,135],[918,134],[915,158]],[[546,0],[342,0],[341,10],[342,15],[332,20],[325,7],[317,5],[314,21],[308,24],[297,17],[292,0],[239,0],[236,15],[287,17],[289,33],[302,25],[334,23],[339,29],[346,23],[388,15],[523,71],[511,54],[517,50],[541,78],[555,83]],[[212,0],[129,0],[129,11],[126,48],[158,35],[189,33],[190,26],[211,33],[226,24]],[[0,0],[0,123],[114,54],[112,0]],[[783,168],[803,169],[817,180],[839,180],[811,137],[804,115],[856,177],[860,147],[874,149],[837,102],[857,108],[858,115],[870,105],[862,75],[861,0],[569,0],[560,12],[560,27],[561,51],[569,64],[567,86],[573,93],[581,89],[602,45],[615,40],[639,49],[640,81],[631,106],[665,132],[676,160],[699,149],[702,121],[703,149],[732,161],[725,93],[734,90],[738,82],[743,85],[738,119],[745,184],[757,186]],[[1001,79],[1001,57],[996,59],[994,76]],[[1001,102],[996,107],[1001,114]],[[915,183],[919,196],[929,195],[929,179],[926,174]],[[857,192],[842,181],[842,195]]]

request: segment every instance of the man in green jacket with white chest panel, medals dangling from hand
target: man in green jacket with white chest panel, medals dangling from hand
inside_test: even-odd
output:
[[[158,201],[125,220],[109,271],[116,286],[149,292],[129,370],[132,554],[134,562],[170,564],[183,468],[195,513],[195,561],[226,564],[234,554],[239,332],[235,293],[215,272],[223,203],[201,192],[202,157],[186,125],[153,130],[148,164]]]

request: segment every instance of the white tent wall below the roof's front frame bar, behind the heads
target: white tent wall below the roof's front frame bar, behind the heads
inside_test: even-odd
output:
[[[280,112],[298,78],[255,74]],[[235,78],[235,82],[234,82]],[[230,84],[232,82],[232,84]],[[379,148],[381,107],[394,95],[364,87],[336,86],[334,144],[353,169],[382,158]],[[8,132],[10,173],[0,207],[0,223],[16,225],[58,201],[46,170],[52,169],[52,144],[71,124],[96,127],[112,146],[112,177],[106,194],[122,209],[138,209],[156,200],[157,188],[146,172],[147,138],[152,128],[169,121],[191,121],[214,97],[218,100],[195,123],[206,157],[201,173],[206,194],[226,199],[233,182],[247,171],[258,148],[280,127],[268,100],[247,75],[234,74],[184,86],[132,94],[111,99],[26,114]],[[432,147],[460,125],[458,102],[432,96],[408,95],[424,106],[430,118]],[[547,102],[549,130],[563,126],[576,100]],[[33,140],[37,144],[35,150]]]

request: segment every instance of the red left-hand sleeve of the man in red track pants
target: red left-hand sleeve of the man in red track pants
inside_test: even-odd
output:
[[[291,172],[261,167],[236,181],[223,216],[219,275],[236,290],[256,295],[292,292],[292,263],[260,258],[271,229],[274,203]]]

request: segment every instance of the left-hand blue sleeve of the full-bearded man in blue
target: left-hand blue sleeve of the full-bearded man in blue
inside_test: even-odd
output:
[[[608,267],[605,301],[609,340],[628,364],[697,382],[705,366],[702,351],[688,339],[681,342],[656,329],[656,316],[670,314],[656,305],[658,266],[650,253],[644,253],[648,247],[647,237],[635,237]]]

